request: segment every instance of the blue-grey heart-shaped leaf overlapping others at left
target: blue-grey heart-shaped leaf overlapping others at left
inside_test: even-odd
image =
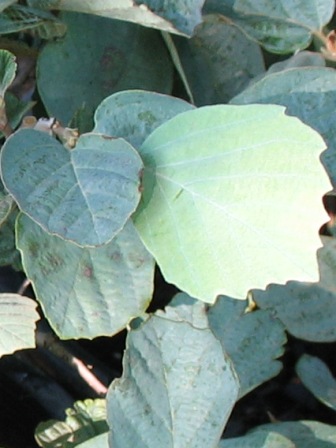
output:
[[[73,150],[32,129],[1,152],[6,189],[46,231],[80,245],[114,238],[140,200],[138,153],[122,139],[82,135]]]

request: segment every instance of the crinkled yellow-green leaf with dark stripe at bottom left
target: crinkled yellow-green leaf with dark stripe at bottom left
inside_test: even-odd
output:
[[[43,448],[71,448],[75,446],[105,447],[107,445],[94,445],[93,441],[98,434],[104,435],[108,429],[106,423],[106,402],[104,399],[87,399],[76,401],[73,408],[66,409],[64,422],[49,420],[40,423],[35,430],[35,439]],[[103,439],[104,439],[103,438]],[[101,443],[101,438],[97,439]],[[84,442],[88,441],[85,445]],[[91,445],[89,444],[91,441]]]

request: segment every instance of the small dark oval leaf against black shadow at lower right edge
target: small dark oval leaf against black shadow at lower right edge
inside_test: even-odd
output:
[[[303,355],[295,369],[307,389],[318,400],[336,411],[336,379],[326,364],[314,356]]]

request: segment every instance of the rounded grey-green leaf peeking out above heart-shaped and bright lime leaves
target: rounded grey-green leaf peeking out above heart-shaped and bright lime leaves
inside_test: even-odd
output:
[[[154,129],[194,107],[179,98],[155,92],[129,90],[115,93],[98,106],[93,132],[122,137],[139,148]]]

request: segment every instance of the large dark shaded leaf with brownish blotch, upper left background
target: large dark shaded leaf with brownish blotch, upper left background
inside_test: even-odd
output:
[[[173,66],[157,31],[88,14],[60,18],[67,34],[44,47],[37,67],[38,90],[50,116],[68,123],[83,107],[93,115],[104,98],[120,90],[170,93]]]

